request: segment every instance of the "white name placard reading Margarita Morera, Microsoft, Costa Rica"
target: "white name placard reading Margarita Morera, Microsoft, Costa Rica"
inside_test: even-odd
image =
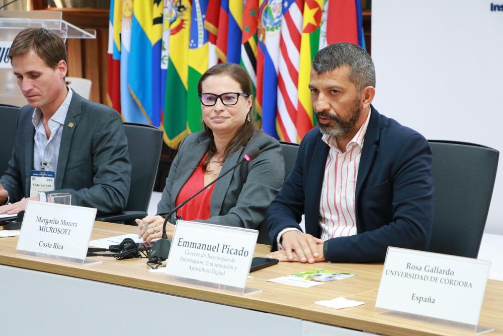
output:
[[[96,209],[28,201],[16,253],[84,260]]]

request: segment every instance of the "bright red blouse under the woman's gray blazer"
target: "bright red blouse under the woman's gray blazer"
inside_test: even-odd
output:
[[[204,186],[204,169],[203,162],[206,155],[203,157],[199,165],[192,173],[191,177],[185,182],[177,196],[176,206],[181,204],[184,200],[198,192]],[[184,221],[193,221],[195,219],[208,219],[210,218],[210,203],[211,194],[213,193],[212,184],[209,188],[194,197],[182,208],[178,209],[178,217],[182,217]]]

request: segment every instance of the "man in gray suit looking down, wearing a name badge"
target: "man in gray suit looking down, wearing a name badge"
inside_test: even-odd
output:
[[[90,102],[64,82],[64,42],[44,28],[16,36],[9,57],[28,104],[21,108],[9,168],[0,178],[0,214],[27,200],[71,193],[72,205],[118,213],[127,204],[131,163],[120,115]],[[43,186],[34,181],[44,178]]]

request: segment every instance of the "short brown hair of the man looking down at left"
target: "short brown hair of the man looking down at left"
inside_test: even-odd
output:
[[[62,59],[68,63],[63,40],[45,28],[26,28],[14,39],[8,57],[23,55],[33,50],[52,69]]]

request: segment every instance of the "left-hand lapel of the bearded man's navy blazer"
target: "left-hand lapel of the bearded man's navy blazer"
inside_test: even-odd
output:
[[[328,150],[330,148],[321,140],[321,133],[316,139],[316,145],[314,147],[314,153],[312,156],[311,169],[309,174],[307,187],[305,190],[305,195],[308,199],[309,204],[306,204],[306,209],[312,209],[312,211],[306,212],[306,223],[318,223],[319,214],[319,204],[321,200],[321,187],[323,186],[323,176],[325,175],[325,165],[326,158],[328,156]],[[306,232],[318,237],[319,225],[308,226],[306,225],[306,231],[309,228],[316,228],[315,232]]]

